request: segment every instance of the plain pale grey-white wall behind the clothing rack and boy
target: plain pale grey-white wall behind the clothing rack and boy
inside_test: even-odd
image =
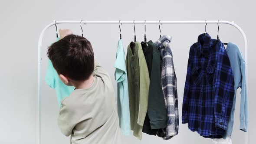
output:
[[[256,134],[255,114],[255,15],[253,0],[1,0],[0,2],[0,144],[36,144],[37,122],[37,44],[41,30],[53,20],[234,20],[248,39],[249,144]],[[59,24],[81,35],[79,24]],[[119,39],[118,24],[83,25],[84,36],[95,51],[95,58],[114,79],[114,62]],[[125,52],[134,38],[133,25],[123,24]],[[181,116],[187,59],[190,46],[204,33],[204,24],[163,24],[162,35],[171,35],[171,49],[178,80]],[[144,40],[144,25],[136,24],[138,41]],[[217,24],[207,32],[217,38]],[[159,37],[158,24],[147,25],[148,40]],[[46,48],[56,39],[55,27],[46,31],[42,47],[42,144],[69,144],[57,126],[56,93],[44,82],[47,68]],[[236,43],[244,52],[243,38],[234,27],[221,24],[220,39]],[[239,130],[240,91],[237,92],[233,144],[243,144],[246,133]],[[180,117],[181,121],[181,117]],[[171,140],[143,134],[142,141],[124,137],[126,144],[210,144],[209,139],[189,131],[181,124]]]

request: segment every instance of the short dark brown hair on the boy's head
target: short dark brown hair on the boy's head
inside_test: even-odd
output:
[[[49,46],[47,56],[58,74],[72,80],[86,80],[94,69],[92,45],[82,36],[65,36]]]

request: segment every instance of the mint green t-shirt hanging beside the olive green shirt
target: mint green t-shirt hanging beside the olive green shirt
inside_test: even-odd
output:
[[[122,40],[118,41],[115,60],[115,80],[117,82],[117,105],[119,126],[124,135],[131,134],[131,121],[128,95],[128,78],[125,65],[125,52]]]

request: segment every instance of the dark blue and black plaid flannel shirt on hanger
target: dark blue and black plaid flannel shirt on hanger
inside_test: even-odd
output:
[[[182,123],[203,137],[223,137],[233,97],[233,73],[226,49],[220,40],[203,33],[190,47]]]

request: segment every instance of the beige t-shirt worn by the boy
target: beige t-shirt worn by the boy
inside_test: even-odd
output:
[[[117,103],[108,73],[95,62],[92,85],[62,101],[58,125],[72,144],[122,144]]]

